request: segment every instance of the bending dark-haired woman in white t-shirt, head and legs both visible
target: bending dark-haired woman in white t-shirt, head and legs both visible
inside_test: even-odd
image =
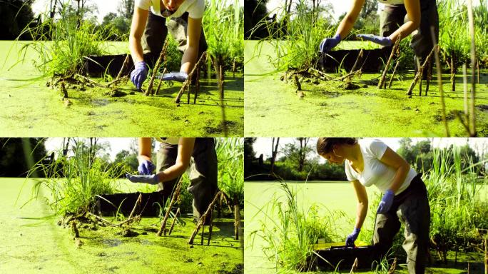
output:
[[[383,193],[377,208],[373,243],[378,255],[387,254],[393,237],[405,225],[403,248],[409,273],[424,273],[429,246],[430,208],[427,190],[413,168],[380,140],[319,138],[317,153],[330,163],[345,163],[347,180],[357,197],[355,228],[346,238],[353,246],[367,212],[366,186]]]

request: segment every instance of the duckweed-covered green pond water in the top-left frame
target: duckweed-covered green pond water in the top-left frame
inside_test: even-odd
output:
[[[85,91],[68,89],[71,105],[61,100],[61,93],[46,87],[39,78],[28,51],[26,61],[16,64],[21,45],[0,41],[6,59],[0,61],[0,135],[1,136],[223,136],[222,109],[215,79],[202,79],[200,93],[190,104],[186,93],[181,103],[174,103],[181,83],[162,86],[157,96],[143,96],[131,81],[118,90],[122,96],[104,95],[100,88]],[[126,43],[111,43],[112,54],[125,54]],[[7,56],[7,53],[8,56]],[[16,64],[16,66],[13,66]],[[146,81],[147,84],[148,81]],[[244,131],[244,78],[242,73],[225,78],[225,125],[228,136],[242,136]],[[125,94],[125,95],[124,95]]]

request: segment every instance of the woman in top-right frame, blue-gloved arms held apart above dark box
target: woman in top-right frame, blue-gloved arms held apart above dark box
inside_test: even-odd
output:
[[[358,34],[357,37],[375,42],[381,46],[392,46],[402,34],[403,39],[414,31],[410,46],[415,51],[415,66],[429,55],[434,47],[431,26],[434,27],[436,41],[439,40],[439,16],[435,0],[380,0],[385,4],[381,11],[380,36]],[[322,40],[320,51],[326,54],[337,46],[354,26],[365,0],[354,0],[350,11],[339,24],[335,36]],[[427,73],[427,69],[425,70]]]

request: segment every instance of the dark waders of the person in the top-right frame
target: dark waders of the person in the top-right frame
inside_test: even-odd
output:
[[[385,4],[380,14],[380,36],[389,36],[395,32],[404,22],[409,21],[405,5]],[[410,47],[415,52],[415,68],[417,61],[422,64],[434,47],[430,27],[434,26],[436,41],[439,41],[439,15],[437,14],[437,4],[435,0],[420,0],[420,27],[412,33]],[[431,66],[434,62],[430,62]],[[427,76],[428,69],[424,70]]]

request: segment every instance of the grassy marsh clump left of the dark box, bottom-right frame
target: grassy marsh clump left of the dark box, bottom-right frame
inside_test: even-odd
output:
[[[256,237],[263,240],[263,251],[268,260],[275,261],[277,268],[306,271],[315,265],[310,260],[313,245],[318,239],[330,243],[337,238],[335,220],[343,214],[327,211],[322,216],[319,212],[324,208],[300,205],[297,198],[296,188],[281,183],[280,194],[259,208],[264,217],[258,220],[260,229],[250,233],[249,243],[252,246]]]

